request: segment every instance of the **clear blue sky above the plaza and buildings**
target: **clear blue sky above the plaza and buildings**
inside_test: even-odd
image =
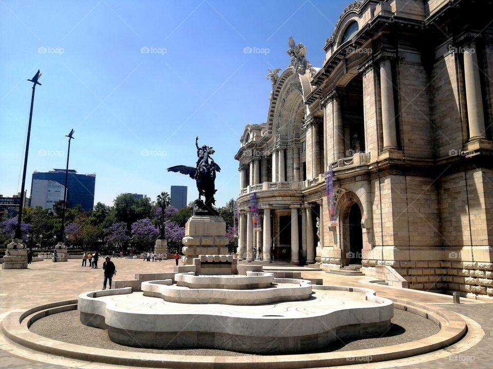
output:
[[[199,136],[216,150],[216,205],[224,206],[238,195],[234,155],[244,127],[267,119],[267,69],[289,65],[291,35],[320,67],[349,3],[0,0],[0,194],[21,189],[26,79],[40,69],[28,195],[33,171],[65,168],[73,128],[70,169],[96,173],[94,203],[112,205],[123,192],[155,200],[172,185],[188,186],[194,200],[194,181],[166,168],[194,166]]]

